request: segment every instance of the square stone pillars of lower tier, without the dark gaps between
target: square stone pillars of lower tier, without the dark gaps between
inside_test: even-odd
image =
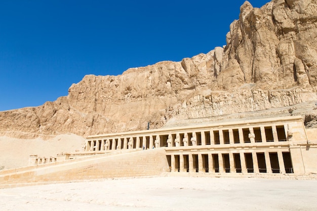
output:
[[[282,151],[278,152],[273,152],[277,153],[278,155],[278,162],[279,162],[279,170],[280,173],[286,173],[285,170],[285,164],[284,164],[284,158]],[[204,164],[203,164],[203,155],[208,155],[208,169],[209,173],[215,173],[214,169],[215,166],[214,160],[213,160],[213,155],[218,155],[218,165],[219,165],[219,173],[225,173],[225,165],[224,165],[224,160],[223,160],[223,154],[229,154],[229,168],[230,168],[230,173],[234,172],[235,170],[235,164],[234,164],[234,157],[233,154],[237,153],[208,153],[208,154],[177,154],[179,155],[179,172],[186,172],[184,168],[184,155],[188,155],[188,167],[189,167],[189,172],[196,172],[194,169],[194,163],[193,163],[193,156],[196,155],[198,158],[198,172],[205,172],[204,171]],[[246,164],[246,159],[245,159],[245,153],[244,152],[239,152],[240,154],[240,165],[241,165],[241,173],[248,173],[247,169],[247,164]],[[253,171],[254,173],[259,173],[259,166],[258,166],[258,159],[257,159],[257,152],[251,152],[252,154],[252,160],[253,160]],[[265,167],[266,167],[266,173],[272,173],[272,167],[271,167],[271,160],[269,156],[269,152],[264,152],[264,157],[265,157]],[[176,172],[178,169],[176,169],[176,162],[175,162],[175,155],[171,155],[171,171]],[[207,167],[207,166],[206,166]]]

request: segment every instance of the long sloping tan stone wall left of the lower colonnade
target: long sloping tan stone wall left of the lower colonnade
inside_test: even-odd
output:
[[[118,177],[158,176],[169,170],[165,149],[135,151],[113,156],[92,156],[65,162],[28,166],[25,171],[0,172],[0,188],[34,183]],[[9,185],[9,186],[8,186]]]

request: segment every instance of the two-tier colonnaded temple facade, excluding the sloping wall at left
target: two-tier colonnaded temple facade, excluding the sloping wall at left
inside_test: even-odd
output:
[[[171,172],[300,175],[317,172],[316,146],[291,116],[90,136],[85,151],[165,147]]]

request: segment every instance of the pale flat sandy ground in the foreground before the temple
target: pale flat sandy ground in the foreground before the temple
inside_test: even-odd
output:
[[[316,210],[317,181],[155,177],[0,189],[1,210]]]

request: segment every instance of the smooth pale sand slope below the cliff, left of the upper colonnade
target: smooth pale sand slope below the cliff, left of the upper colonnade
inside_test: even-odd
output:
[[[83,142],[83,137],[74,134],[59,135],[50,140],[0,137],[0,170],[26,166],[30,155],[56,157],[62,152],[83,150]]]

